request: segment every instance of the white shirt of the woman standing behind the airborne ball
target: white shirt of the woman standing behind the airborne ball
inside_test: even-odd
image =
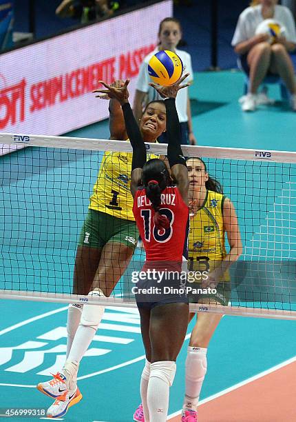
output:
[[[148,74],[148,63],[151,57],[158,52],[158,48],[156,48],[154,51],[149,53],[144,61],[142,61],[142,64],[140,66],[140,72],[138,74],[138,80],[136,89],[138,91],[147,92],[147,99],[145,103],[149,103],[150,101],[154,101],[156,99],[161,99],[160,95],[149,86],[149,82],[151,82],[151,79]],[[191,56],[189,53],[183,50],[176,50],[176,54],[180,57],[180,59],[183,62],[184,66],[184,72],[190,73],[189,77],[183,81],[183,83],[187,83],[189,81],[193,81],[193,70],[191,65]],[[184,121],[188,121],[188,115],[187,115],[187,100],[188,100],[188,87],[183,88],[178,92],[178,95],[176,97],[176,108],[178,112],[178,117],[180,123]]]

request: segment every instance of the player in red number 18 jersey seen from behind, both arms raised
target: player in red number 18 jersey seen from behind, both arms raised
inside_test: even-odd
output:
[[[139,279],[136,286],[136,301],[147,358],[140,391],[145,420],[150,422],[167,420],[169,387],[176,373],[176,358],[184,341],[189,316],[186,294],[182,292],[182,288],[178,290],[189,219],[189,183],[185,159],[180,148],[180,123],[175,103],[178,90],[187,86],[180,86],[187,76],[188,74],[184,75],[171,87],[160,88],[151,84],[162,97],[169,97],[165,99],[165,107],[169,141],[167,157],[172,180],[163,161],[147,161],[145,144],[128,102],[128,81],[125,87],[120,89],[105,84],[109,97],[118,99],[122,105],[125,126],[133,147],[133,211],[146,251],[146,261],[142,269],[146,278]],[[162,290],[163,285],[159,283],[159,275],[149,279],[149,270],[162,272],[166,279],[165,284],[177,287],[178,293],[166,295]],[[169,275],[168,270],[174,271],[173,276]],[[141,294],[142,288],[156,286],[160,288],[159,293],[149,296],[145,292]]]

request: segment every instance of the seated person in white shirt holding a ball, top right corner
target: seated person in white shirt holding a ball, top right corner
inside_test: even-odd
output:
[[[276,42],[268,42],[268,34],[255,34],[257,26],[264,19],[275,19],[285,28],[285,36]],[[268,74],[281,77],[290,92],[290,105],[296,111],[296,80],[289,52],[296,48],[296,30],[293,15],[277,0],[252,1],[237,21],[232,46],[240,56],[241,66],[249,74],[249,92],[242,102],[242,110],[256,108],[257,89]]]

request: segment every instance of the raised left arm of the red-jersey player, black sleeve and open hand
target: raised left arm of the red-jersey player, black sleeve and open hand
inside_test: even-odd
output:
[[[110,99],[117,100],[123,110],[123,117],[125,119],[125,128],[127,130],[127,136],[131,142],[133,148],[133,159],[131,162],[131,193],[136,193],[140,181],[142,179],[142,167],[147,161],[146,147],[140,133],[140,128],[136,123],[136,119],[131,110],[129,104],[129,91],[127,86],[129,85],[129,79],[127,79],[123,86],[119,88],[115,86],[109,86],[107,83],[100,81],[105,90],[96,90],[101,94],[107,95]]]

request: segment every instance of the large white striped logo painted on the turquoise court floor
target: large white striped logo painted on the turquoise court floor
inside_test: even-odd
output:
[[[23,312],[28,303],[23,302]],[[41,307],[39,307],[40,310]],[[0,330],[0,385],[33,388],[63,368],[66,353],[67,306],[36,312]],[[3,328],[3,323],[2,323]],[[91,378],[144,359],[140,317],[136,308],[107,308],[100,328],[79,369]],[[78,377],[78,380],[79,380]]]

